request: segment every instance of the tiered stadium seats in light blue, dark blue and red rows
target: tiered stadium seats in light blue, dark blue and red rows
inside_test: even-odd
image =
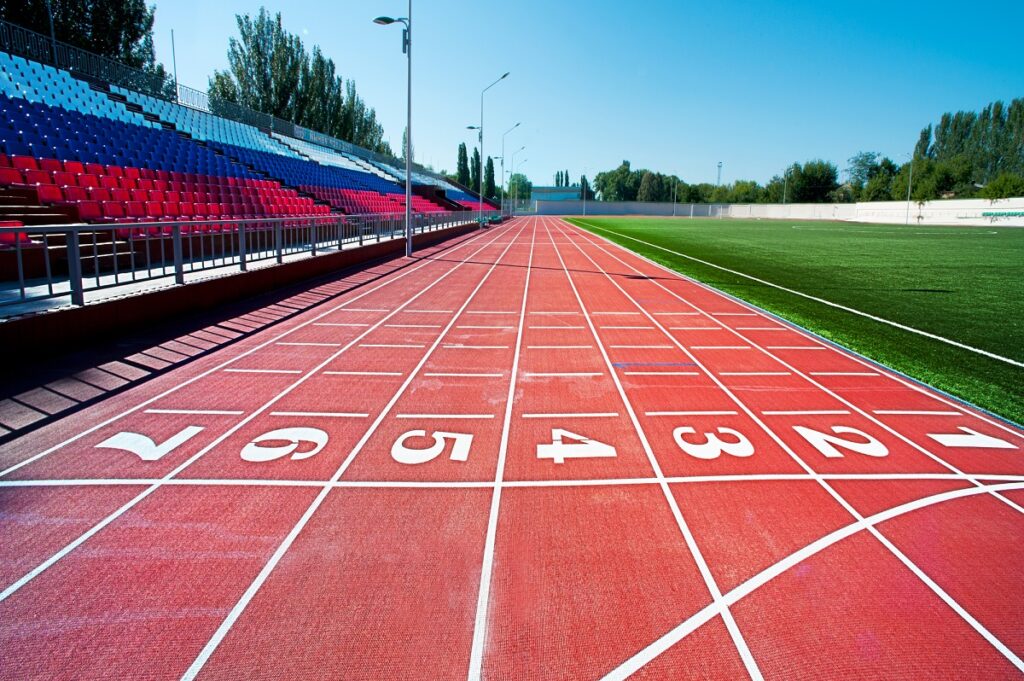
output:
[[[40,205],[72,206],[87,222],[404,211],[403,180],[390,166],[121,87],[110,92],[0,52],[0,187],[30,187]],[[419,173],[414,181],[442,183]],[[416,195],[412,204],[446,210]]]

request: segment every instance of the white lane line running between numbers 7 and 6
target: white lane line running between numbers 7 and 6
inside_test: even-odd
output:
[[[466,258],[466,260],[464,260],[464,261],[456,264],[454,267],[452,267],[447,271],[443,272],[440,276],[438,276],[436,280],[434,280],[430,285],[428,285],[428,286],[420,289],[420,291],[418,293],[416,293],[414,296],[412,296],[411,298],[407,299],[404,303],[402,303],[401,305],[399,305],[398,309],[401,309],[402,306],[408,305],[409,303],[413,302],[414,300],[416,300],[420,296],[424,295],[427,291],[429,291],[433,287],[435,287],[438,284],[442,283],[453,272],[457,271],[466,261],[468,261],[469,259],[471,259],[477,253],[480,253],[481,251],[485,250],[487,248],[487,246],[489,246],[489,243],[484,244],[479,249],[477,249],[472,254],[470,254]],[[391,312],[388,316],[382,317],[379,322],[376,323],[377,326],[383,324],[384,322],[386,322],[388,320],[388,317],[390,315],[393,315],[396,312]],[[316,317],[314,317],[314,318],[316,318]],[[296,381],[294,381],[290,385],[286,386],[281,392],[279,392],[274,396],[270,397],[270,399],[268,399],[267,401],[265,401],[261,407],[259,407],[258,409],[256,409],[249,416],[243,418],[241,421],[239,421],[238,423],[236,423],[233,426],[231,426],[230,428],[228,428],[227,430],[225,430],[223,433],[221,433],[220,435],[218,435],[217,437],[215,437],[206,446],[204,446],[199,452],[197,452],[196,454],[194,454],[191,457],[189,457],[188,459],[186,459],[184,462],[182,462],[181,464],[179,464],[176,468],[174,468],[173,470],[169,471],[166,475],[164,475],[163,478],[161,478],[160,482],[158,482],[156,484],[153,484],[153,485],[146,487],[145,490],[143,490],[142,492],[140,492],[138,495],[136,495],[135,497],[133,497],[131,500],[129,500],[128,502],[126,502],[125,504],[123,504],[122,506],[120,506],[117,510],[115,510],[111,514],[106,515],[102,520],[96,522],[89,529],[87,529],[86,531],[82,533],[77,539],[75,539],[71,543],[65,545],[65,547],[62,549],[60,549],[56,553],[52,554],[49,558],[47,558],[43,562],[39,563],[36,567],[34,567],[29,572],[27,572],[26,574],[24,574],[20,579],[18,579],[15,582],[11,583],[6,589],[4,589],[2,592],[0,592],[0,602],[2,602],[4,600],[6,600],[7,598],[9,598],[12,594],[14,594],[15,592],[17,592],[26,584],[28,584],[29,582],[31,582],[32,580],[34,580],[38,576],[42,574],[44,571],[46,571],[47,569],[49,569],[52,565],[54,565],[57,561],[59,561],[66,555],[68,555],[69,553],[71,553],[72,551],[74,551],[75,549],[77,549],[78,547],[82,546],[82,544],[84,544],[85,542],[89,541],[89,539],[92,538],[92,537],[94,537],[97,533],[102,531],[104,527],[106,527],[111,523],[115,522],[118,518],[120,518],[122,515],[124,515],[125,513],[127,513],[128,511],[130,511],[132,508],[134,508],[142,500],[146,499],[150,495],[152,495],[157,490],[159,490],[161,487],[162,482],[164,482],[166,480],[169,480],[169,479],[175,477],[176,475],[178,475],[178,473],[180,473],[181,471],[183,471],[186,468],[188,468],[188,466],[190,466],[195,462],[199,461],[199,459],[201,457],[203,457],[205,454],[207,454],[208,452],[210,452],[211,450],[213,450],[215,446],[219,445],[225,439],[227,439],[228,437],[230,437],[231,435],[233,435],[236,432],[238,432],[240,429],[242,429],[243,427],[245,427],[246,424],[252,422],[254,419],[256,419],[257,417],[259,417],[260,415],[262,415],[264,412],[266,412],[267,410],[269,410],[279,400],[283,399],[289,393],[291,393],[296,388],[298,388],[299,386],[301,386],[309,378],[311,378],[312,376],[315,376],[318,372],[323,371],[325,367],[329,366],[332,361],[334,361],[339,356],[341,356],[341,354],[343,352],[345,352],[350,347],[352,347],[353,345],[355,345],[360,339],[362,339],[362,338],[367,337],[369,334],[373,333],[374,330],[377,328],[377,326],[371,327],[370,329],[364,331],[361,334],[359,334],[359,336],[357,336],[356,338],[354,338],[351,341],[349,341],[348,344],[345,347],[340,348],[340,349],[336,350],[335,352],[331,353],[331,355],[329,357],[327,357],[321,364],[316,365],[311,370],[309,370],[308,372],[306,372],[305,374],[303,374],[302,376],[300,376]],[[278,338],[280,338],[280,336]],[[273,340],[276,340],[276,339],[273,339]],[[273,340],[268,341],[266,343],[266,345],[269,345],[270,343],[272,343]],[[265,347],[266,345],[260,346],[260,347]],[[426,361],[426,359],[424,359],[423,361]],[[166,394],[166,393],[164,393],[164,394]],[[154,398],[154,399],[156,399],[156,398]],[[150,403],[150,402],[142,402],[142,405],[139,405],[135,409],[140,409],[140,408],[146,406],[147,403]],[[71,440],[69,440],[69,441],[71,441]],[[52,450],[50,450],[50,451],[52,451]],[[38,456],[36,458],[38,458]],[[32,461],[32,460],[30,459],[29,461]],[[24,465],[26,465],[26,462],[23,462],[23,463],[18,464],[17,467],[20,467],[20,466],[24,466]],[[5,471],[5,472],[9,472],[11,470],[15,470],[15,467],[8,468],[7,471]]]

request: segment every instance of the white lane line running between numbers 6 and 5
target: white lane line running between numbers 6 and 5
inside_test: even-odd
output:
[[[518,237],[518,235],[521,233],[521,231],[522,231],[522,229],[520,229],[519,232],[517,232],[516,237]],[[489,246],[489,243],[487,244],[487,246]],[[505,250],[502,251],[502,254],[495,260],[494,264],[492,264],[490,267],[487,269],[486,274],[484,274],[480,279],[480,281],[477,283],[476,287],[469,294],[469,297],[466,299],[466,302],[464,302],[462,304],[462,307],[459,308],[459,312],[458,313],[461,313],[463,310],[466,309],[466,307],[469,305],[470,301],[476,296],[477,292],[479,292],[479,290],[483,287],[484,282],[486,282],[487,279],[490,276],[490,273],[495,271],[495,268],[498,266],[498,263],[501,262],[501,259],[505,256],[506,253],[508,253],[509,248],[511,248],[511,243],[509,244],[509,246],[505,247]],[[482,251],[483,249],[481,248],[480,250]],[[478,252],[479,251],[477,251],[476,253],[478,253]],[[474,255],[475,255],[475,253],[474,253]],[[471,258],[471,257],[472,256],[469,256],[469,258]],[[468,261],[469,258],[466,258],[466,260],[463,260],[459,265],[456,265],[455,268],[453,268],[453,269],[451,269],[449,271],[450,272],[451,271],[455,271],[456,269],[458,269],[459,266],[461,266],[462,263]],[[419,297],[420,295],[422,295],[425,291],[426,291],[426,289],[421,290],[420,293],[418,293],[414,297],[414,299],[416,297]],[[412,300],[409,300],[407,302],[412,302]],[[392,395],[391,399],[388,400],[387,405],[384,406],[384,408],[381,410],[380,414],[377,415],[377,418],[374,419],[374,422],[370,425],[370,427],[367,429],[367,431],[362,434],[362,437],[359,438],[359,440],[352,448],[351,452],[349,452],[348,456],[345,458],[345,460],[338,467],[338,470],[335,471],[335,474],[331,477],[331,482],[338,481],[341,478],[341,476],[344,475],[344,473],[348,469],[349,465],[352,463],[352,461],[355,459],[355,457],[359,454],[359,452],[362,451],[362,448],[366,446],[367,442],[370,440],[371,437],[373,437],[374,433],[380,427],[381,423],[384,422],[384,419],[387,418],[387,415],[391,412],[391,410],[394,408],[394,406],[401,398],[401,395],[406,392],[406,389],[409,388],[409,386],[413,383],[413,380],[416,378],[417,374],[420,372],[420,370],[423,369],[423,367],[430,359],[431,353],[440,345],[441,338],[443,338],[444,334],[447,333],[452,329],[452,327],[455,326],[456,318],[458,318],[458,317],[457,316],[453,316],[452,317],[452,320],[449,322],[449,324],[445,327],[445,329],[433,341],[433,343],[430,346],[430,349],[427,350],[425,353],[423,353],[423,356],[420,358],[420,361],[416,365],[416,367],[413,369],[413,371],[409,374],[409,376],[402,382],[401,386],[399,386],[399,388],[395,392],[395,394]],[[263,586],[263,583],[266,582],[267,578],[270,577],[270,572],[272,572],[273,569],[278,566],[278,563],[281,561],[281,559],[285,555],[285,553],[287,553],[288,550],[291,548],[292,544],[295,542],[295,539],[299,536],[299,534],[302,531],[302,529],[306,526],[306,523],[309,522],[309,519],[316,512],[316,510],[321,507],[321,505],[323,505],[324,500],[327,499],[327,496],[330,493],[330,491],[331,491],[331,487],[325,486],[321,491],[321,493],[316,495],[316,497],[313,499],[312,503],[309,504],[309,507],[302,514],[302,517],[299,518],[299,520],[295,523],[295,525],[292,527],[292,529],[288,533],[288,535],[285,537],[285,539],[282,541],[282,543],[278,546],[276,550],[274,550],[274,552],[273,552],[273,555],[271,555],[270,559],[267,560],[267,562],[263,565],[263,568],[260,570],[259,574],[257,574],[256,579],[253,580],[253,582],[249,585],[249,588],[246,589],[245,593],[242,595],[242,597],[239,599],[239,601],[231,608],[230,612],[228,612],[227,616],[224,618],[223,622],[220,623],[220,626],[217,627],[217,630],[214,632],[213,636],[210,637],[210,640],[207,641],[206,645],[200,651],[199,655],[196,656],[196,659],[193,661],[193,664],[189,666],[189,668],[182,675],[182,680],[183,681],[190,681],[191,679],[195,679],[196,676],[202,671],[203,667],[206,665],[207,661],[210,658],[210,655],[212,655],[213,652],[217,649],[217,647],[220,645],[220,642],[224,639],[224,636],[227,635],[227,632],[230,631],[231,627],[234,626],[234,623],[238,621],[238,619],[240,616],[242,616],[242,613],[245,611],[246,607],[248,607],[249,603],[256,596],[256,593]]]

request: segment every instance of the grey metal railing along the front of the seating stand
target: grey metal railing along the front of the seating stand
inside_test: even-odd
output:
[[[486,213],[487,218],[498,215]],[[404,239],[404,214],[0,227],[0,316]],[[476,215],[414,215],[414,235]],[[26,235],[31,237],[31,242]]]

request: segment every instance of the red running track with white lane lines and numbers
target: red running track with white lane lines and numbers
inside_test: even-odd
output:
[[[519,218],[4,445],[0,677],[1020,677],[1022,456]]]

